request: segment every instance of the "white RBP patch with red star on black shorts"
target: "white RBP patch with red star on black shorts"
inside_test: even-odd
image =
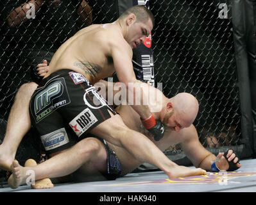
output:
[[[94,125],[98,119],[96,119],[95,115],[89,108],[81,111],[71,122],[69,122],[69,126],[73,129],[76,135],[79,137],[85,131],[87,131],[92,125]]]

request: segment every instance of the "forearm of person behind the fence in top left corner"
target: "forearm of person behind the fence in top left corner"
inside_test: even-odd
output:
[[[30,5],[33,4],[35,9],[34,12],[36,12],[38,8],[40,8],[42,3],[43,3],[42,0],[31,0],[31,1],[28,1],[28,3],[24,3],[21,6],[15,8],[15,10],[10,12],[10,15],[8,17],[9,26],[15,27],[21,24],[21,22],[25,22],[26,20],[28,20],[26,15],[27,15],[27,12],[30,12],[32,9]]]

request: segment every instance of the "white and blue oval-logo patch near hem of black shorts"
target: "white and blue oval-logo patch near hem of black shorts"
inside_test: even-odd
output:
[[[46,135],[42,135],[41,141],[46,151],[49,151],[51,149],[55,149],[57,147],[65,145],[66,143],[69,143],[69,138],[67,136],[65,128],[61,128]]]

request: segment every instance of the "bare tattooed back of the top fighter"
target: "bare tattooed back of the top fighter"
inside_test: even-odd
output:
[[[49,64],[51,69],[44,78],[57,70],[70,69],[83,74],[94,85],[99,79],[115,72],[112,42],[127,46],[132,60],[132,48],[124,40],[117,25],[94,24],[81,29],[62,44],[53,56]]]

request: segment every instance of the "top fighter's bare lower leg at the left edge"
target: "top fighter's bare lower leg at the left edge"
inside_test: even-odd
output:
[[[8,117],[6,134],[0,145],[0,168],[10,170],[16,151],[24,135],[30,130],[28,111],[31,95],[37,88],[36,83],[26,83],[19,88]]]

